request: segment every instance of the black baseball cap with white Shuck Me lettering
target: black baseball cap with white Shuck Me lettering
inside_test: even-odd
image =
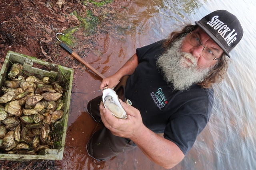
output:
[[[236,16],[226,10],[214,11],[195,23],[212,38],[228,57],[230,57],[229,52],[239,43],[244,34]]]

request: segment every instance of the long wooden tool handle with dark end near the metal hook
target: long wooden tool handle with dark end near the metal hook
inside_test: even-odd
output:
[[[79,55],[77,55],[72,49],[70,49],[65,43],[60,43],[60,47],[62,47],[64,50],[66,50],[69,54],[71,54],[75,59],[80,61],[82,64],[84,64],[89,70],[91,70],[94,74],[99,76],[100,78],[104,79],[106,78],[100,72],[98,72],[95,68],[93,68],[90,64],[88,64],[86,61],[84,61]]]

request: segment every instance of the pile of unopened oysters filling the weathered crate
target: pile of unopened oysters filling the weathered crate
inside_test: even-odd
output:
[[[52,148],[52,131],[62,118],[63,88],[22,73],[13,64],[0,94],[0,153],[37,154]]]

